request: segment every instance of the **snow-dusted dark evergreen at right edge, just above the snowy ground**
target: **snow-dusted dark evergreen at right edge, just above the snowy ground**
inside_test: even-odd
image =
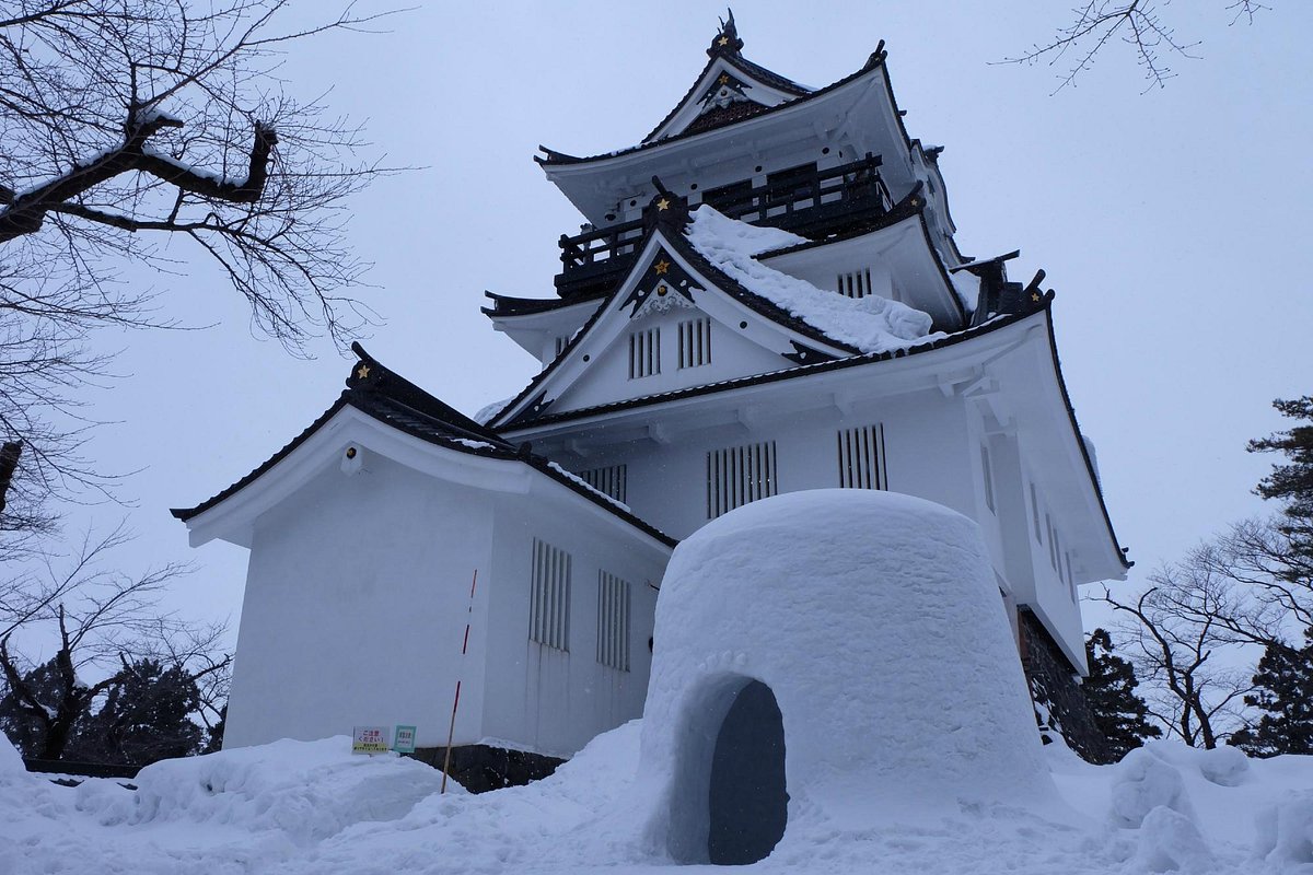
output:
[[[1255,691],[1245,697],[1245,704],[1266,714],[1230,739],[1250,756],[1313,753],[1313,628],[1305,630],[1304,639],[1297,651],[1268,644],[1258,662]]]

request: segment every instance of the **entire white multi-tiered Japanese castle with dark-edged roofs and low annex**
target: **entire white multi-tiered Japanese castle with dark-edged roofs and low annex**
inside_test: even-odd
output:
[[[818,488],[973,519],[1035,687],[1086,672],[1077,586],[1128,563],[1043,274],[958,252],[941,150],[909,135],[882,45],[823,88],[743,46],[731,17],[635,146],[542,150],[584,223],[540,295],[488,293],[492,327],[542,363],[515,397],[469,417],[358,350],[302,436],[176,512],[193,543],[252,550],[234,744],[389,720],[445,744],[435,690],[461,657],[436,641],[473,611],[457,745],[569,756],[639,716],[674,544]],[[479,569],[473,606],[439,558]],[[378,683],[344,635],[412,672]]]

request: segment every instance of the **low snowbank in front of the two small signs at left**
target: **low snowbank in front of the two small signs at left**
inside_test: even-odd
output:
[[[277,830],[309,845],[360,821],[404,816],[439,791],[442,773],[397,754],[353,756],[351,737],[284,739],[204,757],[164,760],[137,775],[131,795],[92,790],[77,807],[104,825],[223,824]],[[448,782],[448,794],[465,791]]]

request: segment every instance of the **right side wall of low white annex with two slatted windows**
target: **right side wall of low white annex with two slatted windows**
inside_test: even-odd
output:
[[[591,513],[502,496],[494,522],[494,585],[486,635],[483,729],[541,753],[567,756],[599,732],[642,715],[656,590],[668,552]],[[532,546],[571,556],[569,651],[529,640]],[[597,662],[597,575],[630,584],[630,670]]]

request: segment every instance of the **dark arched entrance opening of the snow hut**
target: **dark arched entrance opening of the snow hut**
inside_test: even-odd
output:
[[[760,681],[730,676],[691,704],[671,805],[671,855],[718,866],[765,859],[784,837],[789,804],[775,694]]]

